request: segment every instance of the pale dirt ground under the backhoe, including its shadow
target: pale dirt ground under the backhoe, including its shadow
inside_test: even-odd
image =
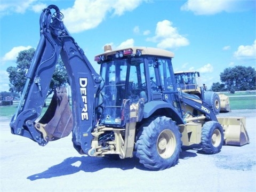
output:
[[[119,160],[79,155],[71,136],[41,147],[12,135],[0,117],[1,191],[256,191],[256,109],[219,116],[245,116],[250,144],[223,146],[204,155],[183,150],[179,163],[163,171],[145,169],[135,157]]]

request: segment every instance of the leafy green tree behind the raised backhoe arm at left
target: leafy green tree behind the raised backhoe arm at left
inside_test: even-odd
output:
[[[7,73],[9,73],[10,79],[10,91],[11,92],[21,92],[26,82],[26,71],[29,69],[30,63],[35,54],[35,49],[31,48],[29,50],[24,50],[19,52],[17,57],[17,67],[8,67]],[[59,58],[57,65],[55,67],[53,77],[50,83],[48,95],[50,95],[55,87],[64,86],[68,83],[67,71],[64,67],[63,62]]]

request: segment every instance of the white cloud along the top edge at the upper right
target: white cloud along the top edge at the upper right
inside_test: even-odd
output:
[[[182,11],[192,11],[196,15],[213,15],[220,12],[238,12],[253,9],[254,1],[244,0],[188,0],[181,6]]]

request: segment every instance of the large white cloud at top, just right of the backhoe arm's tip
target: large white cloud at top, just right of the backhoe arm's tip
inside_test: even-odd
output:
[[[132,11],[142,2],[143,0],[115,0],[104,3],[101,0],[76,0],[73,7],[61,10],[61,12],[65,15],[64,23],[70,33],[79,33],[97,27],[108,13],[122,15],[126,11]]]

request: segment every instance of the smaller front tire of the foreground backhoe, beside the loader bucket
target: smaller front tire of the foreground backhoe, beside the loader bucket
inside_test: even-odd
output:
[[[215,121],[206,122],[202,127],[201,145],[205,154],[219,153],[223,145],[223,128]]]

